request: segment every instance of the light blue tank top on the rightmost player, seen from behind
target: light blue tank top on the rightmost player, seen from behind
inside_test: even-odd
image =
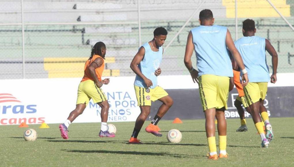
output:
[[[269,82],[270,74],[265,56],[265,38],[242,37],[235,42],[248,72],[249,82]],[[242,76],[242,72],[240,73]]]

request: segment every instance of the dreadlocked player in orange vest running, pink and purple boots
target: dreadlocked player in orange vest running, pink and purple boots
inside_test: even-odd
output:
[[[90,99],[101,107],[101,130],[100,137],[115,137],[107,131],[107,118],[109,103],[104,92],[101,90],[103,84],[109,83],[109,78],[101,79],[102,72],[105,65],[106,46],[103,42],[97,42],[91,53],[91,57],[86,61],[84,68],[84,77],[78,86],[78,98],[76,102],[76,109],[69,114],[64,124],[59,125],[61,137],[68,139],[68,127],[76,117],[81,115],[85,110]]]

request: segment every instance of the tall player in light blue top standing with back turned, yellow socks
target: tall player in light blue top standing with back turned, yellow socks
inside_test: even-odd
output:
[[[184,63],[193,82],[199,84],[199,93],[206,119],[208,158],[227,158],[227,123],[224,111],[228,108],[229,77],[233,77],[232,62],[227,48],[244,72],[242,75],[243,86],[247,84],[248,76],[230,31],[226,27],[213,25],[214,18],[211,10],[204,9],[200,12],[199,23],[200,26],[193,28],[188,35]],[[196,53],[199,72],[192,67],[193,50]],[[216,152],[215,118],[218,122],[219,156]]]

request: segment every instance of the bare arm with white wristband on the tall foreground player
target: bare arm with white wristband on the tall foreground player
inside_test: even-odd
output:
[[[225,38],[225,45],[228,47],[228,49],[230,50],[230,52],[233,55],[234,60],[236,61],[236,63],[238,64],[238,66],[240,67],[241,70],[245,70],[245,65],[243,63],[243,60],[241,58],[240,53],[238,52],[237,48],[235,47],[235,44],[233,42],[231,33],[229,30],[227,30],[227,35]],[[246,86],[248,84],[248,75],[247,73],[243,74],[242,76],[242,86]]]

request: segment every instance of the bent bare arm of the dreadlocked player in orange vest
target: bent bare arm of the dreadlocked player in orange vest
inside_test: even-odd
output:
[[[97,87],[102,87],[103,84],[108,84],[109,83],[109,78],[106,78],[104,80],[99,81],[98,77],[96,75],[95,69],[101,67],[103,64],[103,59],[102,58],[96,58],[88,67],[88,71],[90,72],[91,76],[94,79],[94,82]]]

